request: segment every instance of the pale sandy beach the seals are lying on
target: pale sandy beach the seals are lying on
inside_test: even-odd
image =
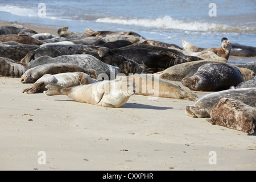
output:
[[[187,117],[185,106],[193,101],[135,95],[122,107],[106,108],[22,93],[30,85],[0,77],[2,171],[256,170],[255,134]]]

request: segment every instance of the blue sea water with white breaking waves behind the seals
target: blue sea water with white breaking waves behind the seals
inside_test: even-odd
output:
[[[68,26],[68,31],[80,33],[86,27],[134,31],[180,47],[182,38],[197,47],[220,47],[223,37],[256,47],[255,0],[0,0],[0,20]]]

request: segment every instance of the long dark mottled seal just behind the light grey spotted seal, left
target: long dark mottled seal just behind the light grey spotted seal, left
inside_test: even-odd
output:
[[[93,54],[98,57],[104,56],[109,52],[109,48],[100,46],[85,46],[85,45],[47,45],[30,51],[24,56],[20,62],[28,63],[40,56],[57,57],[62,55],[80,55],[80,54]]]

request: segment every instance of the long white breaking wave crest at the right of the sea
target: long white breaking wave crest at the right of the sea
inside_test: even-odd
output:
[[[189,31],[219,31],[219,32],[246,32],[256,33],[256,28],[253,27],[233,27],[226,24],[217,23],[204,23],[204,22],[181,22],[180,20],[172,19],[170,16],[164,16],[163,18],[156,19],[128,19],[128,18],[98,18],[98,23],[117,23],[127,24],[143,27],[158,27],[158,28],[170,28],[178,30]]]

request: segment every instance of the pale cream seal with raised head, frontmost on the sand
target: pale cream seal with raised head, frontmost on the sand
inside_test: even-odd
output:
[[[44,94],[47,96],[66,95],[77,102],[104,107],[121,107],[137,92],[134,82],[128,79],[100,81],[71,88],[48,84],[46,88]]]

